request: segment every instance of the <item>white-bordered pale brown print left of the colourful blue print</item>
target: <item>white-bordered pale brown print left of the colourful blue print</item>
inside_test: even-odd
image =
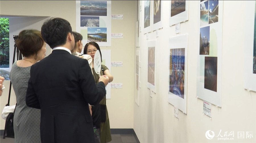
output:
[[[156,93],[156,40],[148,41],[147,87]]]

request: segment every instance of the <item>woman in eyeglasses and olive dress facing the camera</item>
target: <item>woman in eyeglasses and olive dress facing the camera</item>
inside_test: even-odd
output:
[[[94,71],[94,55],[96,51],[100,51],[100,46],[96,42],[89,42],[84,46],[84,54],[88,54],[92,57],[92,72],[93,72],[93,77],[94,81],[96,84],[98,84],[98,80],[100,76],[96,74]],[[100,51],[100,57],[101,56],[101,51]],[[113,76],[110,74],[109,69],[105,66],[102,65],[102,70],[100,71],[100,75],[105,75],[108,76],[109,82],[113,81]],[[100,128],[100,142],[101,143],[106,143],[110,142],[112,140],[111,138],[111,132],[110,132],[110,123],[109,123],[109,118],[108,118],[108,110],[106,107],[106,96],[100,101],[100,104],[90,106],[92,109],[92,120],[93,120],[93,125],[96,126],[97,129]],[[106,118],[103,118],[101,116],[101,111],[103,111],[103,108],[106,108]],[[105,114],[105,113],[103,113]]]

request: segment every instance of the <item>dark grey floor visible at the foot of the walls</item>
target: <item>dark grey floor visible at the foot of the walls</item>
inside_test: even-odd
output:
[[[112,134],[112,141],[109,143],[139,143],[133,134]],[[0,143],[14,143],[14,138],[0,136]]]

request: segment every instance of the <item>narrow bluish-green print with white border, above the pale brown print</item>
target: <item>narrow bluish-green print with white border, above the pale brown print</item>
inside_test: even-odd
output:
[[[151,5],[151,1],[144,1],[144,34],[151,32]]]

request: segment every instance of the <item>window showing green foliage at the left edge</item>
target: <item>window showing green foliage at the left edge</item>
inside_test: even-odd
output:
[[[0,18],[0,68],[9,68],[9,18]]]

